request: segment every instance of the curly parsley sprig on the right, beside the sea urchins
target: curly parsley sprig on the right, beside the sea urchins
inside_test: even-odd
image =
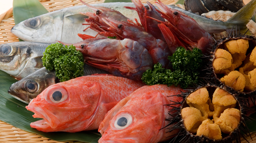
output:
[[[172,56],[168,57],[173,65],[173,71],[162,68],[160,63],[154,65],[142,75],[142,81],[147,85],[166,84],[186,89],[189,85],[199,82],[199,69],[202,65],[202,51],[194,48],[192,51],[178,47]]]

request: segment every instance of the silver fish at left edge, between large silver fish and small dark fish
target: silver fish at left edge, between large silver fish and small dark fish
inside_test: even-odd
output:
[[[16,79],[43,67],[43,52],[51,43],[14,42],[0,45],[0,70]]]

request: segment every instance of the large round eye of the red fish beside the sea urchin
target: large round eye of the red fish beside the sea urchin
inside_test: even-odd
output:
[[[130,126],[131,123],[133,123],[133,118],[131,117],[130,114],[128,113],[120,114],[116,118],[116,121],[114,122],[114,129],[116,130],[125,129],[128,126]]]

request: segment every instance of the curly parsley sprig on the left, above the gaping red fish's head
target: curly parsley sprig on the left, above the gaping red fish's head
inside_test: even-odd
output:
[[[43,66],[55,70],[61,82],[83,76],[83,54],[73,45],[51,44],[43,53]]]

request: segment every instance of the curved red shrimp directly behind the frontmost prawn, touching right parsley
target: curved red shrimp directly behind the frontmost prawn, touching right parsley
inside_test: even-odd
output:
[[[164,41],[156,39],[153,35],[145,32],[144,29],[128,22],[119,22],[112,19],[102,19],[102,21],[109,27],[93,27],[93,25],[97,25],[97,23],[91,21],[93,24],[90,28],[95,31],[102,31],[100,34],[103,36],[116,36],[120,40],[125,38],[135,40],[149,51],[154,64],[161,63],[164,68],[171,68],[171,62],[168,60],[168,56],[171,56],[171,51]],[[82,39],[88,38],[87,35],[78,34],[78,36]]]

